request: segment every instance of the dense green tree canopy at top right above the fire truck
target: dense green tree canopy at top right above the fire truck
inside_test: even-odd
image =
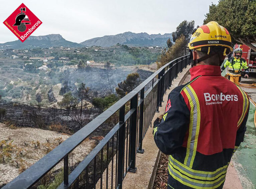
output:
[[[256,1],[255,0],[220,0],[218,5],[212,4],[206,14],[204,24],[217,21],[225,27],[238,42],[251,47],[256,43]]]

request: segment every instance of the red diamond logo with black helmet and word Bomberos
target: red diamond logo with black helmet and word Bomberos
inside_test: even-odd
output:
[[[42,24],[23,3],[3,23],[21,42]]]

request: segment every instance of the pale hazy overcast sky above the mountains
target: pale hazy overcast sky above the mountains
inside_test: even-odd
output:
[[[126,31],[171,33],[183,20],[202,25],[211,3],[218,0],[8,0],[1,1],[3,22],[24,3],[43,23],[32,35],[60,34],[80,43]],[[0,24],[0,43],[18,38]]]

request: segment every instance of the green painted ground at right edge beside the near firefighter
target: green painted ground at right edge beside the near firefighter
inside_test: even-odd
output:
[[[235,152],[232,160],[244,189],[256,188],[256,129],[254,126],[255,107],[250,103],[244,142]]]

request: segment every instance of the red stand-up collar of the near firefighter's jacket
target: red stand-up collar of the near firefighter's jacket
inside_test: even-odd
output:
[[[215,65],[198,65],[191,67],[190,71],[190,81],[195,79],[196,77],[202,76],[221,76],[221,67]]]

